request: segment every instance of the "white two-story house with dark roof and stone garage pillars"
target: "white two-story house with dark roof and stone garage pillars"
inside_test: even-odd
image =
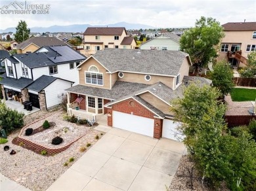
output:
[[[43,46],[34,53],[9,56],[4,60],[6,77],[0,81],[3,95],[49,109],[62,102],[66,88],[78,84],[75,67],[85,59],[68,46]]]

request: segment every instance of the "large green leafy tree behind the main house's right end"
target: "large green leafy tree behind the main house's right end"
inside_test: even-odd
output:
[[[216,47],[224,37],[223,27],[213,18],[201,17],[196,26],[184,32],[181,50],[188,53],[192,63],[203,66],[217,57]]]

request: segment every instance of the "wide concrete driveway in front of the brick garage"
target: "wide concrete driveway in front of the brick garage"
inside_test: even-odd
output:
[[[166,190],[184,145],[112,128],[48,190]]]

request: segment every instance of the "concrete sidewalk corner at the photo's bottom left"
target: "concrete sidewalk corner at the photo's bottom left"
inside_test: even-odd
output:
[[[1,191],[30,191],[30,189],[18,184],[17,182],[11,181],[0,173],[0,190]]]

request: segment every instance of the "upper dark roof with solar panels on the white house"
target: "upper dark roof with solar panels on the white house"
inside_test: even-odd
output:
[[[45,67],[67,63],[69,61],[81,61],[86,57],[68,46],[44,46],[49,52],[33,52],[30,54],[15,54],[14,57],[30,68]],[[56,57],[56,58],[55,58]]]

